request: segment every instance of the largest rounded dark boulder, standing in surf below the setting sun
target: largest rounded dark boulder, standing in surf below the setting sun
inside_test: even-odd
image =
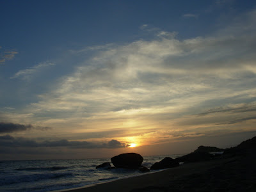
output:
[[[112,157],[111,162],[116,168],[138,169],[141,166],[143,157],[140,154],[128,153]]]

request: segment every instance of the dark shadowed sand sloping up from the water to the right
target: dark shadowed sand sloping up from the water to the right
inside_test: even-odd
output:
[[[256,191],[255,154],[216,157],[66,191]]]

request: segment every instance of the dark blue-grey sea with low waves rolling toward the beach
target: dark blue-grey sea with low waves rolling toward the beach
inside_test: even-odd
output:
[[[146,156],[142,165],[150,168],[164,157],[179,156]],[[0,191],[55,191],[145,174],[139,170],[95,168],[105,162],[110,158],[0,161]]]

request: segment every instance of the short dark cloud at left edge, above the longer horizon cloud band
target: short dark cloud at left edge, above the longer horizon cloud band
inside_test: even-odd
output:
[[[13,124],[13,123],[4,123],[0,122],[0,134],[1,133],[10,133],[10,132],[19,132],[27,131],[29,129],[50,129],[50,127],[34,127],[33,125],[22,125],[22,124]]]

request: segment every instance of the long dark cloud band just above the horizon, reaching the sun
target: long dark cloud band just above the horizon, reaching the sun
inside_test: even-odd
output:
[[[0,136],[1,147],[68,147],[68,148],[124,148],[129,147],[126,143],[121,143],[117,140],[111,140],[108,143],[93,143],[88,141],[68,141],[68,140],[56,140],[56,141],[43,141],[38,142],[28,138],[14,138],[10,135]],[[0,148],[1,148],[0,147]]]

